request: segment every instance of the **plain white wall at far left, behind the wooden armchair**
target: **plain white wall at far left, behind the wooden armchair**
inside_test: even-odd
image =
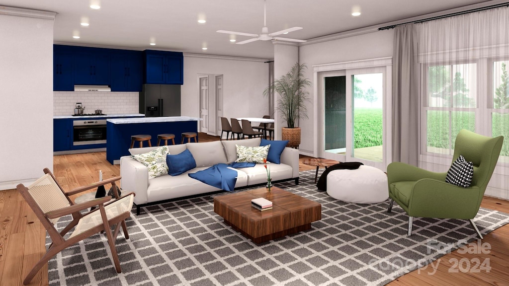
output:
[[[0,189],[53,169],[54,13],[22,12],[0,14]]]

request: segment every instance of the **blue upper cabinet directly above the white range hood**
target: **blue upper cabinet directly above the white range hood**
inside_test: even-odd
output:
[[[109,50],[76,47],[74,84],[109,85]]]

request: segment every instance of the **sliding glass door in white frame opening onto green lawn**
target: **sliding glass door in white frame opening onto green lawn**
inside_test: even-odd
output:
[[[320,157],[385,170],[385,68],[321,72]]]

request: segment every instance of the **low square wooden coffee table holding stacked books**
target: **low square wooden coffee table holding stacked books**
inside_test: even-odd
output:
[[[251,199],[257,197],[271,201],[272,209],[251,207]],[[277,187],[271,192],[260,188],[215,196],[214,212],[254,243],[308,230],[313,221],[322,219],[322,205]]]

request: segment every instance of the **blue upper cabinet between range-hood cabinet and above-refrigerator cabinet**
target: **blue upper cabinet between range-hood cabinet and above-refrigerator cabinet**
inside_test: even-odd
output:
[[[110,55],[111,91],[139,92],[143,85],[143,53],[113,50]]]

